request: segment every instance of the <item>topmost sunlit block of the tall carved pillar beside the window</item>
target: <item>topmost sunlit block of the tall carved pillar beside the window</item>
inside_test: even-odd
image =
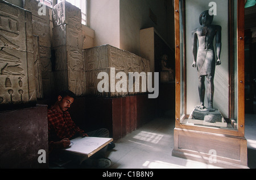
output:
[[[77,24],[81,24],[82,20],[81,10],[67,1],[55,5],[52,16],[53,27],[59,26],[60,24],[71,24],[73,27],[76,27]]]

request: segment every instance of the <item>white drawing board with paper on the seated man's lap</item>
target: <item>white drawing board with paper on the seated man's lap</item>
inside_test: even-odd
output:
[[[71,145],[64,150],[90,157],[112,141],[113,138],[106,137],[77,137],[76,139],[72,139]]]

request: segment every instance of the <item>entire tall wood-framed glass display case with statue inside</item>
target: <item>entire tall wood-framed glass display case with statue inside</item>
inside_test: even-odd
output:
[[[173,156],[247,166],[244,7],[243,0],[175,0]]]

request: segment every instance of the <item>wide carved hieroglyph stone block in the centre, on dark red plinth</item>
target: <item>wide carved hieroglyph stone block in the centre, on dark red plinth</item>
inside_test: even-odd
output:
[[[109,88],[110,81],[114,81],[115,84],[120,80],[116,79],[115,75],[118,72],[124,72],[129,80],[130,73],[141,73],[150,72],[150,62],[142,57],[134,55],[133,53],[123,51],[122,49],[115,48],[111,45],[102,45],[100,47],[94,47],[89,49],[84,49],[84,58],[85,58],[85,71],[86,71],[86,88],[88,95],[97,95],[100,97],[123,97],[126,95],[134,95],[142,93],[142,81],[139,81],[139,84],[134,84],[139,86],[139,93],[129,92],[112,92],[110,93],[99,93],[97,86],[101,79],[97,79],[98,73],[106,72],[109,74]],[[110,68],[114,68],[114,76],[111,76]],[[135,82],[135,81],[134,81]],[[128,83],[127,83],[128,88]]]

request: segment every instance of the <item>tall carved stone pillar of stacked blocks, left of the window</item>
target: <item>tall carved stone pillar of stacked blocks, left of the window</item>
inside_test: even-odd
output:
[[[53,48],[57,90],[69,89],[85,95],[85,67],[82,57],[81,10],[68,2],[53,7]]]

